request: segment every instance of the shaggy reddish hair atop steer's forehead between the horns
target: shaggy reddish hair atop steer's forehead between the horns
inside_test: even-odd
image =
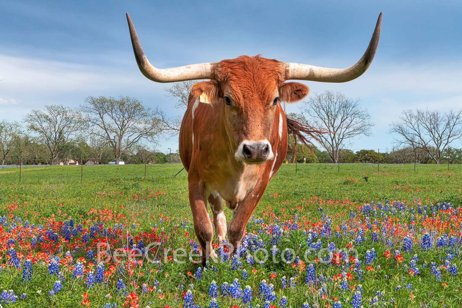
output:
[[[272,100],[273,97],[269,96],[274,95],[274,89],[285,81],[283,63],[263,58],[260,54],[222,60],[215,73],[219,81],[224,81],[230,86],[233,99],[239,103],[244,103],[252,97],[262,102]]]

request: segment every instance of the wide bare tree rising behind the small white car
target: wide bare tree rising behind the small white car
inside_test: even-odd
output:
[[[80,106],[95,129],[92,134],[105,139],[119,164],[120,157],[130,147],[148,140],[155,142],[164,127],[150,108],[134,97],[87,97]]]

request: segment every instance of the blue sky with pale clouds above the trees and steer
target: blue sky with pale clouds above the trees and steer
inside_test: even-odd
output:
[[[369,109],[373,137],[350,148],[391,149],[389,123],[403,109],[462,108],[461,1],[1,0],[0,12],[0,118],[20,121],[45,104],[77,107],[101,95],[137,97],[178,114],[165,97],[169,84],[138,70],[125,12],[159,68],[241,54],[347,67],[364,53],[383,12],[378,50],[364,75],[343,84],[305,82],[311,92],[360,97]],[[160,151],[177,149],[176,138],[159,141]]]

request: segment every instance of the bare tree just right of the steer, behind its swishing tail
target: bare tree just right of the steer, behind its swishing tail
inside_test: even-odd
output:
[[[303,102],[298,120],[320,128],[325,133],[313,133],[326,149],[332,162],[337,163],[340,152],[353,137],[371,136],[371,116],[362,108],[359,98],[346,97],[340,92],[314,93]],[[350,142],[351,143],[351,142]]]

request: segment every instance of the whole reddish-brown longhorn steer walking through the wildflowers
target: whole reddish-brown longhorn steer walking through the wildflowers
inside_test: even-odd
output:
[[[213,228],[207,200],[218,244],[227,234],[232,255],[268,181],[286,156],[287,116],[281,102],[297,102],[309,92],[306,85],[285,81],[346,82],[359,77],[371,64],[377,49],[382,13],[365,54],[355,65],[344,69],[285,63],[260,55],[158,69],[143,53],[128,13],[127,19],[136,62],[148,79],[156,82],[212,79],[191,87],[180,129],[179,150],[188,171],[189,203],[195,234],[201,244],[202,264],[214,255],[210,249]],[[222,198],[232,210],[228,228]]]

